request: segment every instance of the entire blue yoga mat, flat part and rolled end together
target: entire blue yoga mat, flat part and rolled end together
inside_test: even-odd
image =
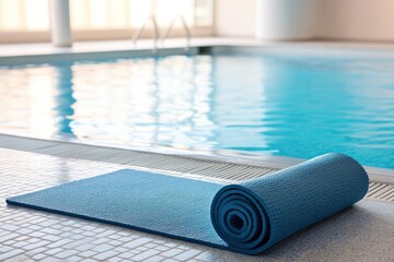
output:
[[[7,203],[258,254],[367,191],[361,165],[326,154],[230,186],[125,169]]]

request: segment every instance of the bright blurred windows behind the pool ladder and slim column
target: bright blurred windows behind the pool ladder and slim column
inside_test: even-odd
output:
[[[48,0],[0,0],[0,43],[50,40]],[[182,15],[194,36],[212,34],[213,0],[69,0],[74,40],[130,38],[150,15],[167,28]],[[174,35],[181,23],[174,24]],[[143,36],[152,36],[147,24]],[[178,29],[179,31],[179,29]],[[181,34],[179,32],[178,34]]]

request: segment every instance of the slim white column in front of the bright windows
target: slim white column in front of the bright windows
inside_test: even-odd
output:
[[[51,41],[57,47],[71,47],[69,0],[49,0]]]

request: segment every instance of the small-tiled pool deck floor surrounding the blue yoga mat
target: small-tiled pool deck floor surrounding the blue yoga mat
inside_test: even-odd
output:
[[[7,206],[11,195],[125,165],[0,150],[0,261],[394,261],[394,202],[363,200],[247,257],[94,222]]]

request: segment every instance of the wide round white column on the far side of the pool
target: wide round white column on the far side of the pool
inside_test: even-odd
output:
[[[314,37],[320,0],[257,0],[256,38],[291,40]]]

